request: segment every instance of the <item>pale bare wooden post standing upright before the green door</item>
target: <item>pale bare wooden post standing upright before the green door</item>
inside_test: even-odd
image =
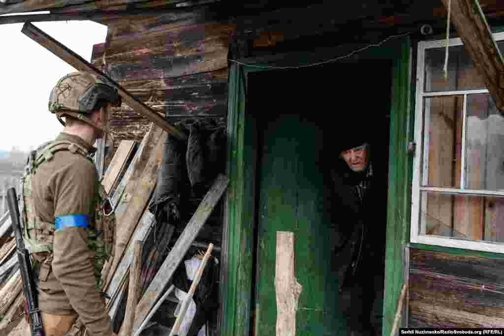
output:
[[[296,310],[301,290],[294,273],[294,233],[277,231],[277,336],[296,335]]]

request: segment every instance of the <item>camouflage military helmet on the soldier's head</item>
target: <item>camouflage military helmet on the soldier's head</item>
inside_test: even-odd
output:
[[[62,116],[70,115],[86,122],[90,119],[85,114],[99,109],[101,103],[119,106],[121,103],[117,89],[107,80],[89,72],[75,72],[61,78],[49,96],[49,111],[55,113],[59,122]],[[96,126],[91,122],[93,126]]]

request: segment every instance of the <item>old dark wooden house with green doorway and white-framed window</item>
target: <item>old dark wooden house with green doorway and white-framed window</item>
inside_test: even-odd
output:
[[[476,13],[477,0],[452,2]],[[504,4],[479,4],[503,46]],[[403,284],[402,326],[504,327],[504,118],[454,26],[443,78],[442,1],[0,4],[0,14],[35,10],[50,14],[0,23],[107,25],[97,69],[170,123],[225,125],[229,187],[202,239],[221,248],[216,334],[281,334],[277,232],[294,235],[296,334],[346,333],[322,174],[339,155],[338,133],[361,129],[339,122],[346,114],[371,125],[386,184],[377,200],[386,216],[376,217],[386,236],[382,334],[393,329]],[[122,104],[114,147],[141,141],[149,124]]]

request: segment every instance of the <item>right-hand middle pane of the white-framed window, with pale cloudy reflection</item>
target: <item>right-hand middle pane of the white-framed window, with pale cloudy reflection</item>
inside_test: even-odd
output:
[[[467,96],[465,188],[504,189],[504,117],[489,94]]]

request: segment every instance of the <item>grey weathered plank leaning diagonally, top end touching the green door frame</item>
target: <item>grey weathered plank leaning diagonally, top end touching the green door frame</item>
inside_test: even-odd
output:
[[[205,224],[205,221],[217,205],[220,197],[224,193],[224,190],[227,188],[228,183],[229,180],[226,176],[219,175],[212,188],[205,195],[205,198],[203,199],[200,207],[198,207],[196,213],[193,215],[193,218],[189,223],[187,223],[182,235],[178,238],[177,242],[161,265],[159,272],[156,274],[149,288],[138,303],[135,314],[135,325],[133,327],[134,332],[138,330],[145,316],[147,316],[156,301],[159,299],[160,293],[171,280],[173,273],[182,261],[187,249],[191,246],[191,243],[197,237],[199,230]]]

